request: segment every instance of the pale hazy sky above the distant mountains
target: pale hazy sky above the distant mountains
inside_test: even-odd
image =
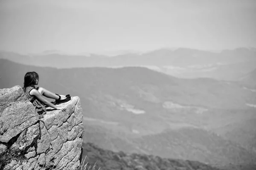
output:
[[[256,47],[256,0],[0,0],[0,50]]]

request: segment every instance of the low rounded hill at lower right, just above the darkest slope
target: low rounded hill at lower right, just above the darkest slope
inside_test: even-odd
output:
[[[249,164],[256,161],[256,153],[250,153],[238,143],[198,128],[166,130],[135,141],[150,154],[167,158],[200,160],[218,165],[225,165],[227,162]]]

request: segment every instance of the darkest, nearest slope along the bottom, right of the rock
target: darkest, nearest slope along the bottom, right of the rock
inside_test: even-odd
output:
[[[158,156],[140,154],[127,155],[123,152],[114,153],[110,150],[103,150],[94,144],[83,144],[83,155],[88,166],[104,170],[218,170],[218,168],[200,163],[198,161],[185,161],[179,159],[166,159]]]

